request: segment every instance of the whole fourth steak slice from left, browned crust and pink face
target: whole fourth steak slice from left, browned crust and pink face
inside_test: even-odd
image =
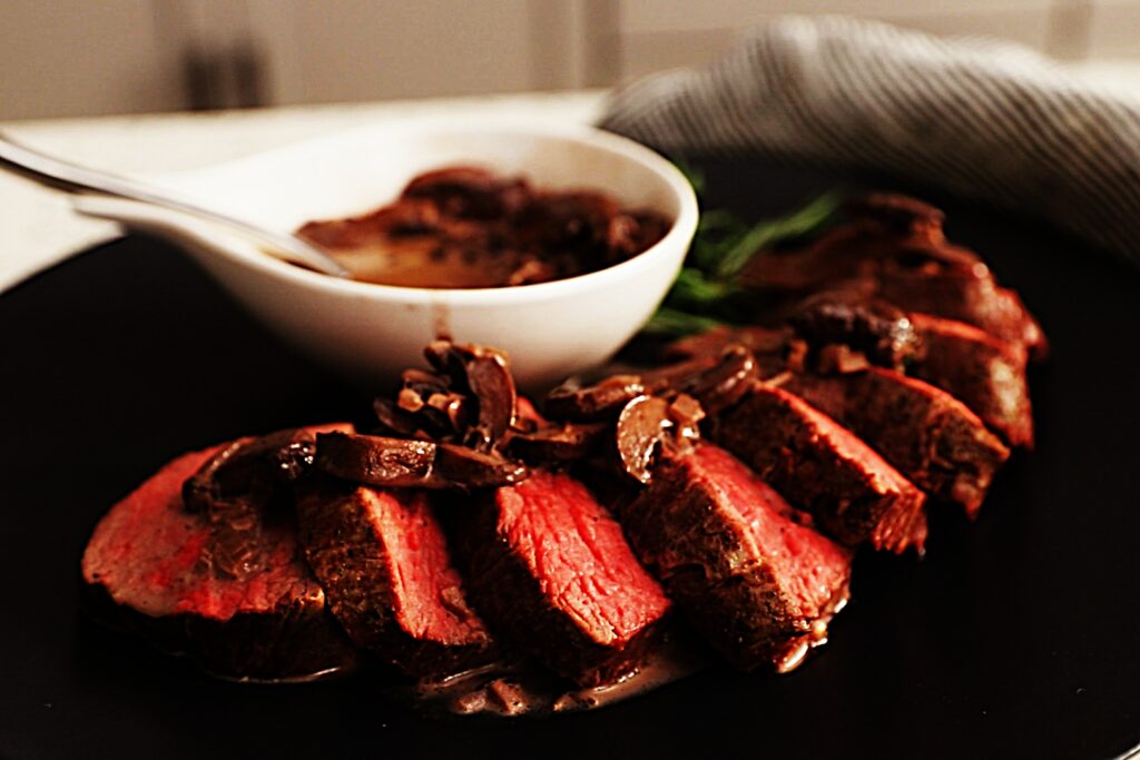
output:
[[[669,597],[733,665],[796,667],[847,599],[850,551],[800,524],[724,449],[665,459],[621,510],[626,534]]]

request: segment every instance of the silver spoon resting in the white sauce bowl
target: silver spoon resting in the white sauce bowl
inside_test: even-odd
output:
[[[166,190],[87,166],[80,166],[21,145],[0,132],[0,169],[18,174],[38,185],[72,195],[104,195],[161,206],[217,222],[255,239],[262,251],[278,259],[303,264],[333,277],[350,277],[350,272],[328,254],[295,235],[267,230],[241,219],[203,209],[177,198]]]

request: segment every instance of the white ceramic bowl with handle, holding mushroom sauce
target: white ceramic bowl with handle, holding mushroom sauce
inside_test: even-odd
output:
[[[139,204],[85,198],[76,207],[174,238],[276,333],[368,384],[422,365],[424,345],[441,328],[457,341],[506,350],[523,387],[602,362],[660,303],[697,228],[692,187],[652,150],[589,126],[516,120],[377,124],[163,183],[203,205],[291,231],[312,219],[374,209],[417,173],[454,164],[521,173],[538,187],[603,190],[675,221],[650,250],[597,272],[521,287],[427,289],[318,275],[221,229]]]

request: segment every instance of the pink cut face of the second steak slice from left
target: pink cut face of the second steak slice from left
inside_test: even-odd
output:
[[[361,488],[367,520],[391,562],[396,618],[409,635],[445,645],[484,640],[487,631],[461,596],[443,531],[422,491]]]

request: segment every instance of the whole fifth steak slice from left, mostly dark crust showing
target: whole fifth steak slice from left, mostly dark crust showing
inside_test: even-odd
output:
[[[712,440],[845,546],[922,550],[926,497],[866,443],[803,399],[757,386],[722,412]]]

